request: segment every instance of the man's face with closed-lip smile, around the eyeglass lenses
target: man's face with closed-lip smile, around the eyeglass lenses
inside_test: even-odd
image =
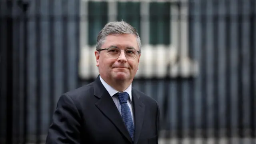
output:
[[[133,34],[108,35],[104,40],[101,49],[109,47],[117,47],[120,50],[134,48],[139,50],[136,36]],[[112,58],[108,55],[108,50],[96,51],[96,62],[100,76],[109,80],[130,81],[133,80],[140,62],[140,54],[134,59],[126,58],[125,51],[121,51],[120,56]]]

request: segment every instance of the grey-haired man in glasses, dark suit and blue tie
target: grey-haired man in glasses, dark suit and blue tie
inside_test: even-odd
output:
[[[158,144],[158,104],[132,87],[140,48],[130,24],[104,26],[95,51],[100,75],[60,97],[46,144]]]

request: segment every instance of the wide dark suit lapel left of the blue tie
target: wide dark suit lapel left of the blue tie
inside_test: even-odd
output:
[[[106,88],[100,82],[100,78],[94,82],[94,95],[99,98],[95,105],[100,111],[116,126],[116,128],[132,143],[129,132],[124,125],[122,116],[116,108],[114,101],[109,95]]]

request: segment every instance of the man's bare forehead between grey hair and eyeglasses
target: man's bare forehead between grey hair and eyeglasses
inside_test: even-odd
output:
[[[108,48],[109,46],[118,46],[120,48],[133,47],[136,50],[139,49],[136,36],[133,34],[110,34],[106,36],[102,48]]]

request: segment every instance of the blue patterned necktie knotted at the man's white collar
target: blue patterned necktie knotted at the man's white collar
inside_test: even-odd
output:
[[[132,122],[132,114],[130,111],[130,108],[127,104],[127,100],[129,98],[129,94],[127,92],[120,92],[118,93],[118,100],[121,104],[121,113],[122,113],[122,119],[124,121],[124,124],[130,134],[130,137],[132,138],[132,141],[134,140],[134,125]]]

